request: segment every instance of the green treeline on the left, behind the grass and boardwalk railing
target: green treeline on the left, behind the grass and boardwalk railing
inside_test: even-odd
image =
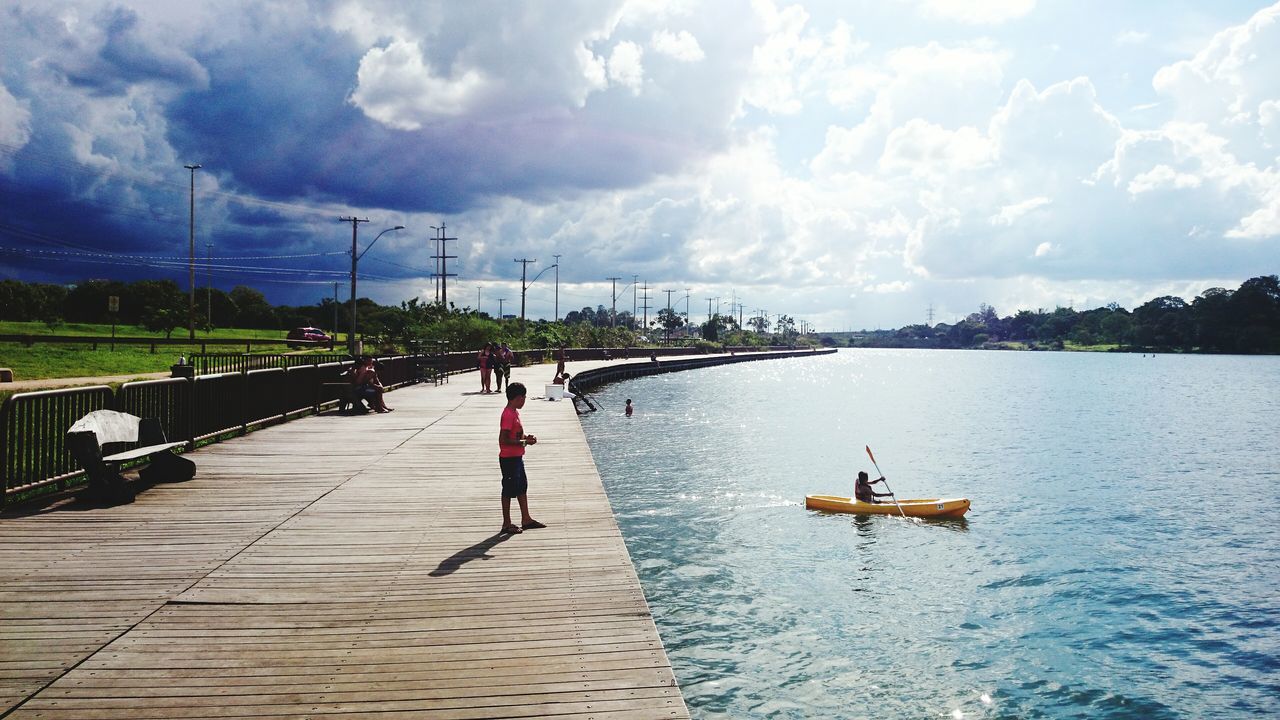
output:
[[[119,299],[119,310],[108,311],[108,299]],[[23,283],[0,281],[0,320],[37,322],[56,332],[69,323],[111,324],[138,327],[147,332],[172,336],[184,329],[188,319],[189,296],[173,281],[84,281],[63,286],[50,283]],[[739,327],[728,315],[716,315],[713,322],[692,327],[685,318],[668,309],[650,315],[650,329],[644,331],[641,319],[631,313],[609,313],[603,305],[568,311],[563,320],[518,320],[493,318],[470,307],[439,302],[420,302],[416,297],[399,306],[378,305],[361,297],[357,301],[360,334],[379,350],[407,348],[415,341],[442,341],[451,348],[477,348],[486,342],[507,342],[516,350],[545,348],[567,345],[570,347],[636,347],[655,345],[659,338],[678,340],[686,345],[718,346],[719,343],[792,345],[817,342],[813,337],[800,337],[796,323],[783,315],[774,323],[774,332],[755,327],[756,332]],[[276,305],[246,286],[230,292],[218,288],[196,288],[196,328],[210,332],[214,328],[280,331],[317,327],[330,334],[337,329],[346,334],[351,327],[346,302],[335,304],[324,299],[316,305]],[[753,323],[748,323],[751,325]]]

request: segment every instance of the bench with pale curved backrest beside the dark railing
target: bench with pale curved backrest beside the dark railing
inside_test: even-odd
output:
[[[138,478],[146,483],[177,483],[196,475],[196,464],[172,451],[183,442],[168,442],[160,420],[114,410],[95,410],[67,430],[67,450],[88,475],[88,497],[105,502],[133,502],[133,491],[120,466],[150,459]]]

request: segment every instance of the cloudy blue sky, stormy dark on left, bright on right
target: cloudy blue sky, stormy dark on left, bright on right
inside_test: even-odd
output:
[[[361,297],[435,300],[444,227],[451,302],[518,314],[526,269],[548,319],[1280,272],[1280,4],[6,0],[0,36],[0,279],[187,290],[192,199],[197,284],[276,304],[348,297],[343,217]]]

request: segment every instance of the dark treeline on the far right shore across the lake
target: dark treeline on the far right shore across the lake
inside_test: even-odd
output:
[[[1162,296],[1132,313],[1116,304],[1076,311],[1019,310],[1001,318],[980,305],[955,324],[854,333],[854,347],[1027,347],[1161,352],[1280,354],[1280,282],[1261,275],[1238,290],[1212,287],[1196,300]],[[1101,347],[1108,346],[1108,347]]]

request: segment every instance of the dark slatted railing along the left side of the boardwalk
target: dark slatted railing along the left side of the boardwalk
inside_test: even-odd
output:
[[[419,359],[379,357],[387,387],[417,378]],[[257,425],[317,413],[337,401],[347,363],[269,368],[195,378],[169,378],[106,386],[17,393],[0,405],[0,507],[58,492],[83,482],[83,470],[67,451],[67,429],[93,410],[119,410],[157,418],[170,441],[188,448],[243,434]],[[329,393],[324,391],[329,389]]]

